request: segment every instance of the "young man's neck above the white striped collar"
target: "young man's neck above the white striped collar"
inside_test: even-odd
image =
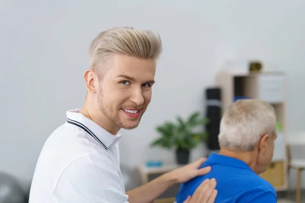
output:
[[[120,128],[115,123],[113,123],[108,117],[106,117],[100,111],[100,109],[92,108],[95,106],[96,105],[90,103],[88,99],[86,99],[79,113],[94,121],[95,123],[97,123],[102,128],[104,128],[115,136]]]

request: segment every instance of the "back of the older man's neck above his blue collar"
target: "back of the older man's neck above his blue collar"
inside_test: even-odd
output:
[[[257,159],[255,151],[244,152],[244,151],[232,151],[228,149],[221,149],[219,154],[239,159],[245,162],[247,165],[249,165],[249,167],[251,167],[253,171],[255,171],[256,159]]]

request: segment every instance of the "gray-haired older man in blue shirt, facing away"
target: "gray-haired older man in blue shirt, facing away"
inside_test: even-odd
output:
[[[245,99],[231,105],[220,124],[220,153],[211,154],[202,165],[210,165],[211,172],[182,184],[177,203],[211,178],[217,180],[215,202],[276,203],[275,189],[258,176],[271,162],[276,122],[275,110],[265,101]]]

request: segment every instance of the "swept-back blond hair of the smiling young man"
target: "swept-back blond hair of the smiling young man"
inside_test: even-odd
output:
[[[161,52],[161,38],[153,31],[115,27],[100,32],[90,44],[90,69],[99,69],[101,62],[109,59],[112,54],[157,60]]]

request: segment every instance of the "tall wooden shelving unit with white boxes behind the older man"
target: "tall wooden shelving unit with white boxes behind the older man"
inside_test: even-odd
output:
[[[286,75],[283,72],[233,73],[221,71],[217,85],[221,88],[222,113],[234,103],[235,96],[246,96],[268,101],[275,107],[281,130],[275,142],[273,159],[268,170],[260,176],[267,180],[276,191],[288,187],[286,152]]]

